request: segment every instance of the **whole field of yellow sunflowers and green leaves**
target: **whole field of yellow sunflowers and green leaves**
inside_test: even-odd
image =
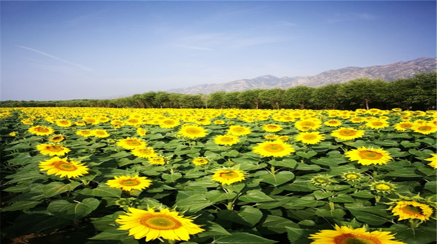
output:
[[[26,107],[0,122],[5,243],[436,241],[436,111]]]

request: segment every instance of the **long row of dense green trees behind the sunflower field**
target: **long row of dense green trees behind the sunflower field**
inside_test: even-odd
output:
[[[381,108],[436,109],[436,72],[387,82],[359,78],[317,88],[253,89],[244,92],[181,94],[146,92],[108,100],[0,101],[0,107],[138,107],[138,108]]]

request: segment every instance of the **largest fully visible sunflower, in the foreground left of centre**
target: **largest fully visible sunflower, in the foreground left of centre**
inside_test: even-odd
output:
[[[159,212],[155,212],[154,208],[147,211],[135,208],[128,210],[131,213],[118,215],[116,222],[121,224],[118,229],[129,229],[129,235],[133,235],[135,239],[146,237],[146,242],[149,242],[162,237],[167,240],[188,241],[189,235],[204,231],[193,220],[167,208]]]

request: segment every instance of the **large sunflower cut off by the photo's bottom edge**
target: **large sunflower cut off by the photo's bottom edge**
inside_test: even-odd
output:
[[[309,239],[314,239],[311,244],[404,244],[393,241],[394,234],[388,231],[367,232],[363,228],[349,229],[346,226],[335,226],[336,230],[324,229],[316,234],[311,234]]]

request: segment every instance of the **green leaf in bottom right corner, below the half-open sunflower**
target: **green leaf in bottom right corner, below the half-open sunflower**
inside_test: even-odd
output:
[[[436,241],[436,228],[420,227],[411,229],[406,225],[392,225],[388,231],[396,233],[396,239],[407,244],[428,244]]]

